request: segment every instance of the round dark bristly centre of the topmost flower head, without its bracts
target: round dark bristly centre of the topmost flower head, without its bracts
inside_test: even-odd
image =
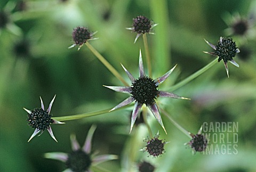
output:
[[[133,19],[134,31],[138,34],[148,33],[151,29],[152,22],[145,16],[139,15]]]

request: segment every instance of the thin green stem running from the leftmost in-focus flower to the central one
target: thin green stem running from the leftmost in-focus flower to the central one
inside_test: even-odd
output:
[[[131,105],[126,105],[122,108],[118,108],[118,109],[123,109],[126,107],[130,107]],[[106,109],[106,110],[100,110],[100,111],[95,111],[95,112],[89,112],[89,113],[81,113],[81,114],[74,114],[74,115],[70,115],[70,116],[63,116],[63,117],[54,117],[52,119],[57,120],[57,121],[68,121],[68,120],[76,120],[76,119],[82,119],[82,118],[87,118],[87,117],[92,117],[92,116],[97,116],[99,114],[105,114],[105,113],[109,113],[110,109]],[[118,110],[116,109],[116,110]],[[115,111],[115,110],[113,110]],[[111,111],[111,112],[113,112]]]

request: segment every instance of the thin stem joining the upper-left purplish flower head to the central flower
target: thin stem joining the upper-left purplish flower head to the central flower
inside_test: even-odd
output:
[[[116,69],[97,51],[91,44],[88,42],[85,45],[91,50],[91,52],[105,65],[105,67],[117,78],[119,79],[125,86],[129,86],[128,83],[124,80],[124,78],[116,71]]]

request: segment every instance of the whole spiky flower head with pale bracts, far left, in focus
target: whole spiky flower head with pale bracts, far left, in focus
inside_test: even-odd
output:
[[[55,95],[56,96],[56,95]],[[41,100],[41,108],[35,108],[33,110],[26,110],[28,112],[28,125],[32,128],[35,128],[35,132],[31,135],[28,142],[35,137],[39,132],[43,134],[44,130],[47,129],[47,131],[50,133],[51,137],[57,142],[56,138],[53,135],[52,128],[50,124],[64,124],[64,122],[60,122],[57,120],[52,119],[52,114],[50,114],[52,103],[55,99],[55,96],[53,97],[49,108],[47,110],[44,109],[44,103],[40,97]],[[39,135],[41,135],[39,134]]]

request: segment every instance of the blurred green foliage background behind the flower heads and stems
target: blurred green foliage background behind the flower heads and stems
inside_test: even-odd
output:
[[[17,5],[18,4],[18,5]],[[173,91],[191,101],[159,99],[159,106],[181,126],[197,133],[206,122],[238,121],[237,155],[191,154],[184,143],[189,138],[162,116],[167,135],[149,114],[153,134],[165,145],[162,157],[147,157],[138,150],[146,145],[146,127],[135,127],[129,134],[132,108],[108,114],[51,125],[56,143],[44,132],[27,143],[34,129],[27,125],[22,108],[40,106],[39,96],[48,107],[53,96],[53,117],[68,116],[112,108],[127,97],[102,85],[122,83],[83,46],[73,44],[71,33],[77,26],[98,31],[98,40],[90,42],[129,81],[120,63],[138,77],[139,49],[145,56],[140,38],[126,30],[132,19],[145,15],[158,26],[149,35],[153,59],[153,77],[157,78],[178,64],[160,89],[168,88],[211,62],[212,51],[204,38],[216,44],[231,21],[230,15],[256,16],[255,1],[164,1],[164,0],[66,0],[0,1],[0,171],[61,171],[62,162],[43,158],[46,152],[70,152],[70,133],[84,143],[92,124],[97,125],[93,151],[118,154],[119,160],[100,165],[110,171],[136,169],[142,160],[156,166],[156,171],[256,171],[256,60],[255,31],[233,36],[241,53],[229,64],[229,78],[220,62],[187,85]],[[228,15],[230,14],[230,15]],[[255,17],[254,16],[254,17]],[[1,16],[0,16],[1,17]],[[145,59],[144,59],[145,61]],[[151,120],[152,119],[152,120]],[[127,155],[131,155],[130,161]],[[130,167],[129,167],[130,168]]]

